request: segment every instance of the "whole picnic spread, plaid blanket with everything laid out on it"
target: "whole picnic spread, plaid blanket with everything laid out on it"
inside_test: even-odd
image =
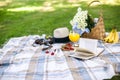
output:
[[[11,38],[0,50],[0,80],[103,80],[120,74],[117,29],[105,37],[103,16],[94,24],[81,8],[70,23],[74,35],[60,27],[53,37]]]

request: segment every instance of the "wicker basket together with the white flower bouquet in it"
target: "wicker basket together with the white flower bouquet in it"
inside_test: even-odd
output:
[[[80,34],[81,37],[103,40],[105,37],[105,29],[102,15],[99,19],[94,20],[88,14],[88,11],[83,11],[80,7],[77,13],[70,21],[73,31]]]

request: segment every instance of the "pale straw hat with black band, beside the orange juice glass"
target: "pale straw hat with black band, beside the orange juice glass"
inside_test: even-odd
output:
[[[67,27],[60,27],[54,30],[53,39],[55,43],[69,42],[69,29]]]

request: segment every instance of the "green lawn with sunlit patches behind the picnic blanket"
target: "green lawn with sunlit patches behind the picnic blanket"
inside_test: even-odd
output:
[[[113,26],[120,31],[120,5],[103,4],[90,8],[87,5],[81,0],[77,3],[68,0],[12,0],[7,6],[0,7],[0,46],[12,37],[52,35],[55,28],[64,26],[71,29],[69,21],[78,7],[87,9],[93,18],[99,17],[101,8],[106,31]]]

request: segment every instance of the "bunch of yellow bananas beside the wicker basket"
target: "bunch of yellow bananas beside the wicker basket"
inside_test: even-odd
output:
[[[111,32],[108,34],[104,41],[107,43],[117,43],[119,41],[119,34],[116,28],[113,28]]]

